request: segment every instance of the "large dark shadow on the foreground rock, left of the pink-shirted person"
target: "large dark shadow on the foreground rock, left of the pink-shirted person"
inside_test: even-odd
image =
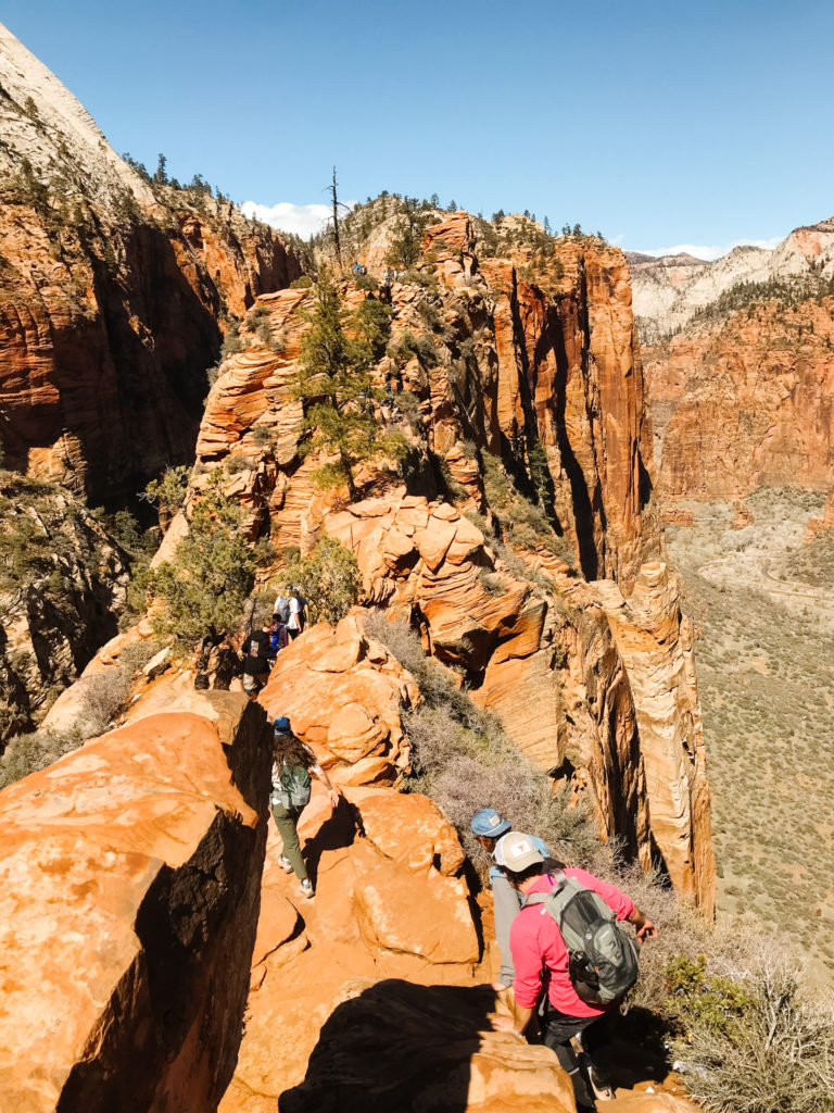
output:
[[[463,1113],[495,1001],[488,986],[379,982],[334,1009],[279,1113]]]

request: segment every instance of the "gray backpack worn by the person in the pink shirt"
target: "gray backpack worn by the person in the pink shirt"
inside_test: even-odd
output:
[[[609,1005],[637,981],[637,944],[598,894],[565,874],[555,876],[549,893],[530,893],[522,908],[545,906],[565,940],[577,996],[590,1005]]]

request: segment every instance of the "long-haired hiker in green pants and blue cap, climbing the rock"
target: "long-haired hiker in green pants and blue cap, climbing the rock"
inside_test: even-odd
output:
[[[327,789],[330,806],[337,808],[341,794],[330,784],[330,778],[316,761],[309,746],[292,733],[289,719],[281,716],[272,723],[272,818],[281,836],[281,866],[285,874],[295,873],[300,881],[300,896],[312,898],[312,881],[301,857],[298,841],[298,819],[310,799],[310,774],[318,777]]]

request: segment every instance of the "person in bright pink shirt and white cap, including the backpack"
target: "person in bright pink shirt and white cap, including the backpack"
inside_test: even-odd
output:
[[[596,1022],[637,979],[637,945],[616,920],[634,924],[638,943],[655,938],[657,928],[624,893],[587,870],[559,865],[547,873],[529,835],[504,835],[495,860],[524,903],[509,933],[515,1015],[495,1017],[493,1026],[524,1035],[544,984],[544,1043],[570,1076],[577,1113],[588,1113],[596,1107],[595,1093],[614,1096],[586,1057],[605,1042],[603,1025]],[[580,1037],[586,1053],[582,1064],[570,1043],[574,1037]]]

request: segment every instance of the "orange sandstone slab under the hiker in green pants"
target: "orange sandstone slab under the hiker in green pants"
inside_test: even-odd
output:
[[[334,812],[316,784],[299,824],[311,902],[280,868],[270,823],[246,1034],[224,1113],[272,1113],[304,1080],[351,979],[473,983],[479,946],[454,828],[424,796],[345,795]],[[391,1022],[379,1020],[384,1041]],[[418,1092],[423,1080],[409,1077]]]

